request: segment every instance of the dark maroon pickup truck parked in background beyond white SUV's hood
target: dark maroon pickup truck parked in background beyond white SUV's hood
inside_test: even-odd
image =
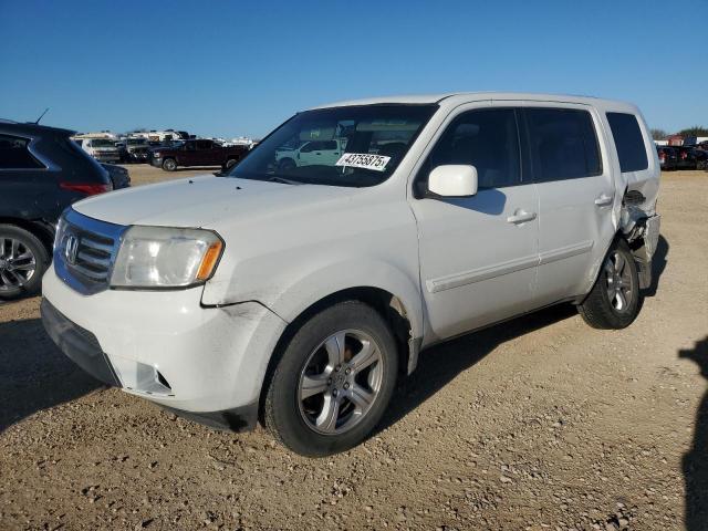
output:
[[[174,171],[179,166],[221,166],[229,169],[248,152],[244,146],[223,147],[214,140],[190,139],[153,148],[149,162],[166,171]]]

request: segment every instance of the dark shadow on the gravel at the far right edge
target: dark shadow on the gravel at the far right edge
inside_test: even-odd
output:
[[[693,360],[700,374],[708,379],[708,336],[694,348],[678,351],[678,357]],[[690,450],[684,455],[684,482],[686,486],[686,530],[708,530],[708,391],[696,413],[696,429]]]

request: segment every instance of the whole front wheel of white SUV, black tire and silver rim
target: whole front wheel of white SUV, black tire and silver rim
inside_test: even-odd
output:
[[[284,347],[268,386],[266,427],[303,456],[347,450],[381,420],[397,373],[396,341],[384,319],[362,302],[337,303]]]

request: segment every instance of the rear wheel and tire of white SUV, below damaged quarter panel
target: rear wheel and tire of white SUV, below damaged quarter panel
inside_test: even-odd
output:
[[[594,329],[624,329],[638,315],[641,296],[637,264],[627,242],[617,239],[577,311]]]

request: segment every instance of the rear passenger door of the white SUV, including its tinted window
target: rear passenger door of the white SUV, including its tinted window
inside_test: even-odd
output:
[[[540,204],[537,305],[586,291],[614,238],[615,196],[600,116],[585,105],[533,104],[524,128]],[[600,139],[603,139],[601,143]]]

